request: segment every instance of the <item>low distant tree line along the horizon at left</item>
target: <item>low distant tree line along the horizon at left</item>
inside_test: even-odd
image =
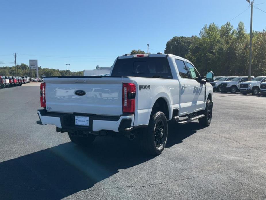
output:
[[[38,68],[39,77],[42,75],[45,76],[67,76],[68,70],[59,70],[59,69],[49,69],[49,68]],[[21,63],[17,65],[18,76],[29,76],[36,77],[36,70],[29,69],[29,66]],[[0,67],[0,75],[1,76],[15,76],[15,66],[12,67]],[[83,76],[83,71],[72,72],[69,70],[70,76]]]

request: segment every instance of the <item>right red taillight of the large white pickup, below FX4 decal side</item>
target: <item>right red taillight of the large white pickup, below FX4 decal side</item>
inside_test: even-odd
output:
[[[122,104],[123,112],[135,112],[136,86],[134,83],[123,83]]]

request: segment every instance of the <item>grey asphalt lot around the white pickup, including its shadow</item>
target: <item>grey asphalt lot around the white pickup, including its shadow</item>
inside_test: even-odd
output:
[[[171,124],[150,157],[137,140],[84,150],[37,125],[34,84],[0,90],[0,199],[266,199],[266,97],[214,93],[210,127]]]

